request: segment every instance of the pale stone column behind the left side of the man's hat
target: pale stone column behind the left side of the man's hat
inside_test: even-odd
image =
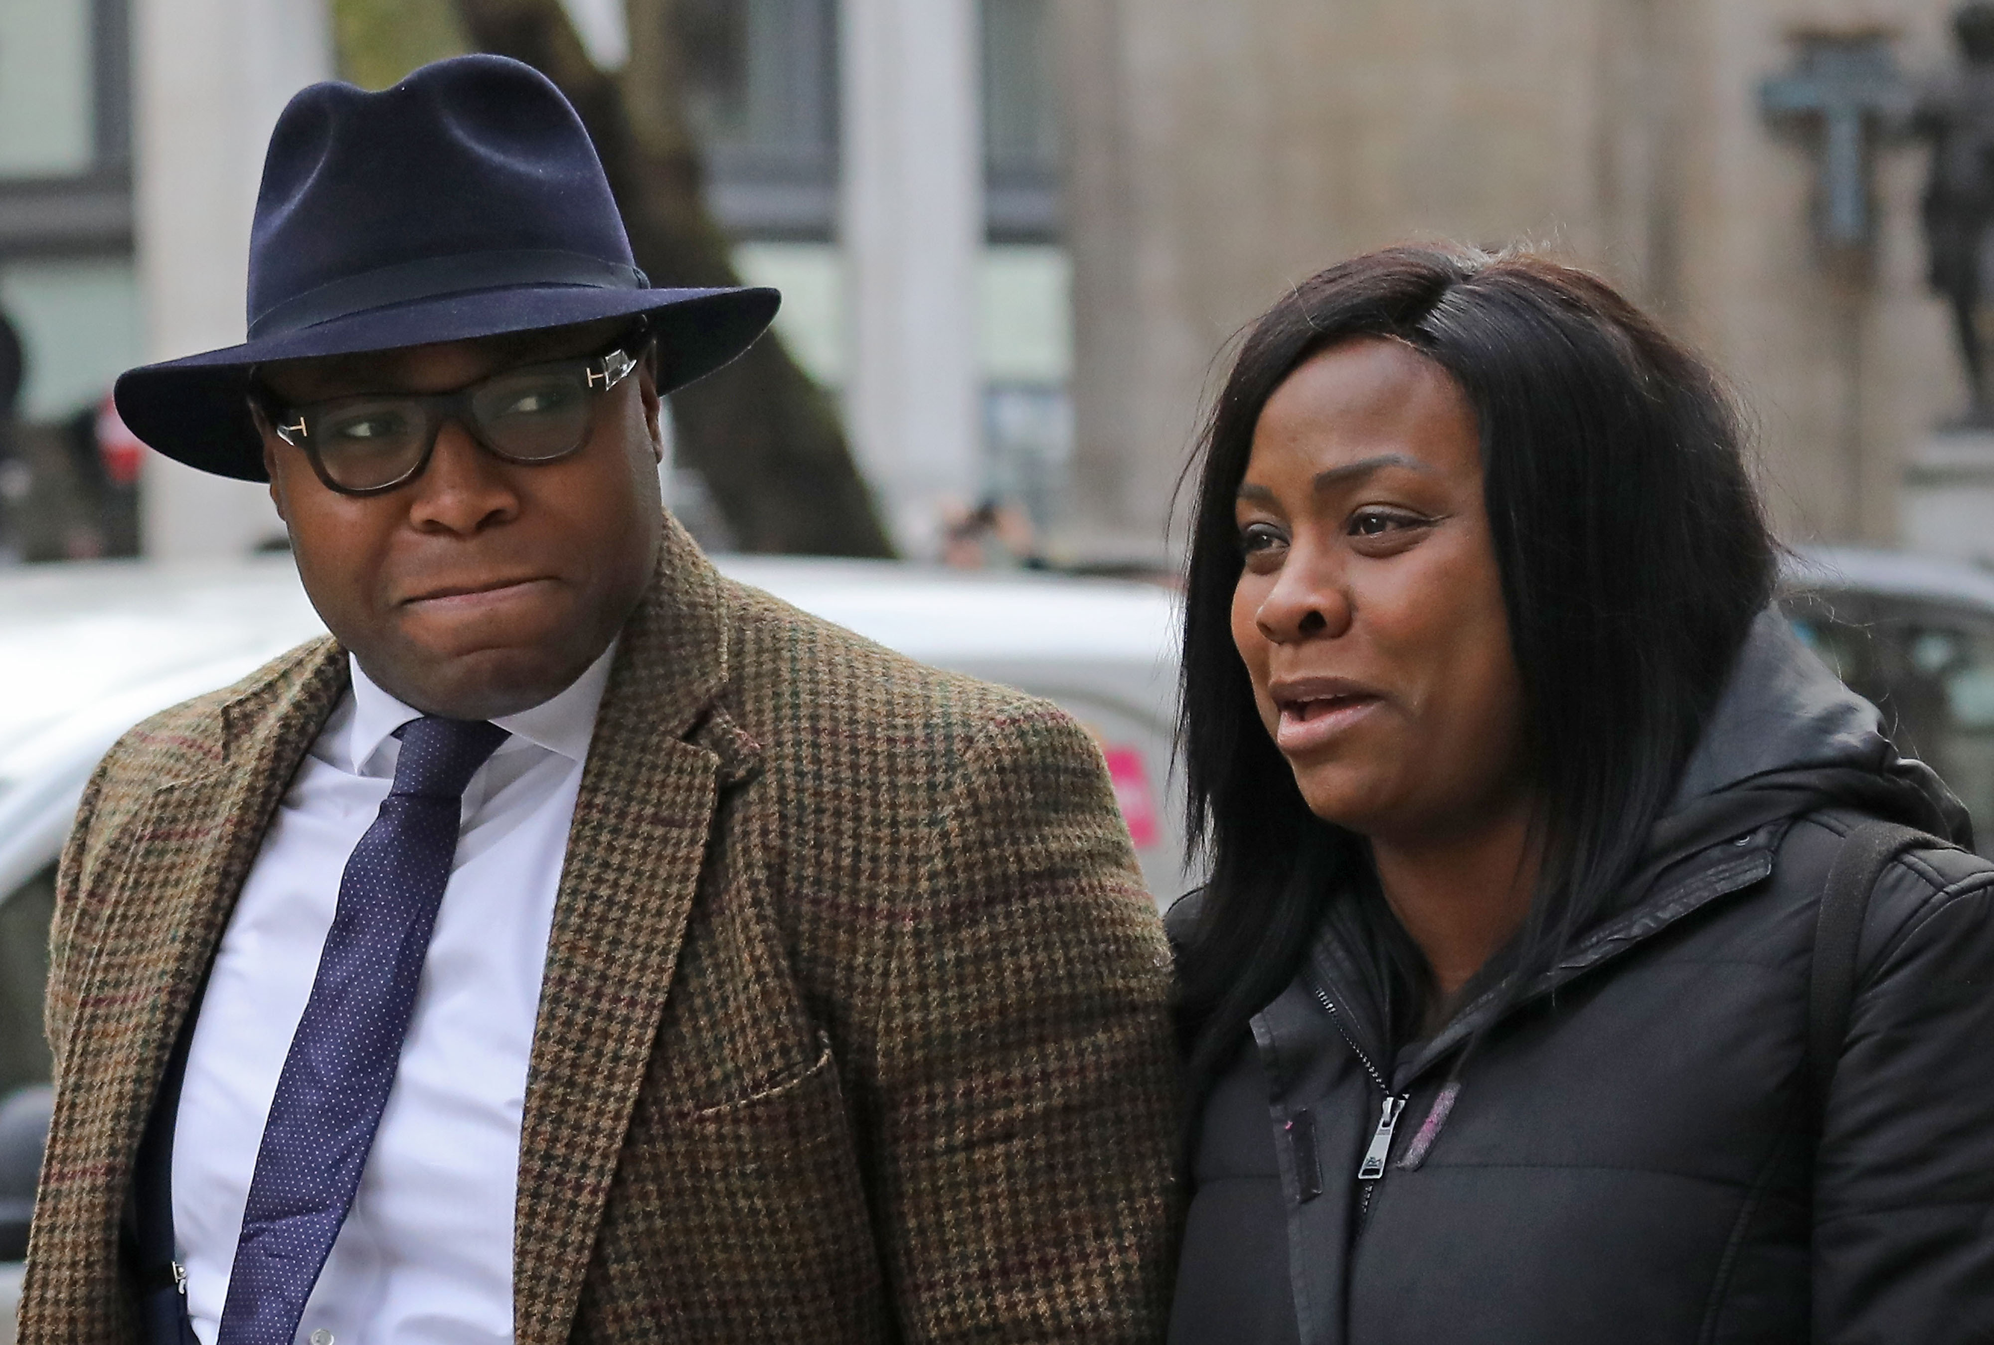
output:
[[[136,0],[134,155],[146,353],[243,339],[249,217],[277,114],[333,70],[325,0]],[[162,558],[237,556],[281,536],[263,486],[158,454],[144,544]]]

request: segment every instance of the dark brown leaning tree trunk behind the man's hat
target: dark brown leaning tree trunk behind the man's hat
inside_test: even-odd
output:
[[[652,285],[740,285],[706,213],[678,96],[670,0],[632,0],[622,82],[588,58],[560,0],[457,0],[471,46],[534,66],[574,104]],[[770,333],[672,395],[674,452],[752,552],[891,556],[830,397]]]

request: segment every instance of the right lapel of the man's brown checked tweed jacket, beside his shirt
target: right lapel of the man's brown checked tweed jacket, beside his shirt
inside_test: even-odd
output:
[[[546,948],[514,1210],[520,1345],[568,1337],[720,789],[740,771],[702,731],[726,683],[726,638],[720,576],[666,520],[658,576],[596,715]]]

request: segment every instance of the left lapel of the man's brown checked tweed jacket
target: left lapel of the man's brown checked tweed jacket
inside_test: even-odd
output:
[[[92,1231],[76,1247],[86,1271],[72,1283],[116,1283],[120,1210],[166,1056],[263,831],[343,689],[339,650],[307,646],[225,701],[211,735],[179,743],[185,773],[162,781],[116,833],[90,837],[120,891],[90,893],[106,921],[72,948],[82,974],[50,1126],[50,1180],[78,1202],[58,1219]]]

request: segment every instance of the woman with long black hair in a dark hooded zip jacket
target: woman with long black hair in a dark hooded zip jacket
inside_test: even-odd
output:
[[[1172,1341],[1994,1339],[1994,867],[1771,608],[1711,371],[1392,249],[1200,472]]]

